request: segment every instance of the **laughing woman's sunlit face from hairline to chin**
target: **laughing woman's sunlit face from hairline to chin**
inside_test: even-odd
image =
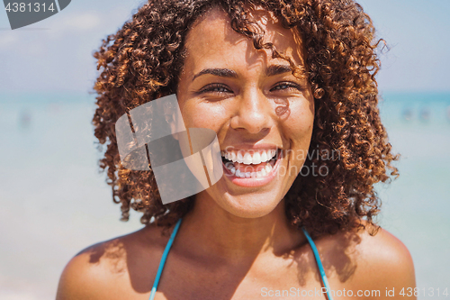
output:
[[[303,66],[298,35],[272,14],[252,14],[266,31],[264,42]],[[218,9],[193,26],[185,45],[176,93],[184,123],[215,131],[224,162],[224,176],[197,199],[240,217],[269,214],[293,185],[310,146],[311,87],[306,77],[293,76],[288,61],[255,50]]]

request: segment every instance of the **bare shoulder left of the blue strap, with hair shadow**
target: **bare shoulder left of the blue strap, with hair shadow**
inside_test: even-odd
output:
[[[57,300],[115,299],[137,288],[144,291],[147,286],[139,286],[139,280],[132,282],[130,277],[139,277],[141,268],[146,268],[142,279],[150,280],[147,277],[156,273],[152,270],[164,240],[157,228],[144,228],[82,250],[64,268]]]

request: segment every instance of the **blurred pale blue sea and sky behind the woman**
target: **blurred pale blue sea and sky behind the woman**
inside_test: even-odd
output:
[[[54,298],[79,250],[141,227],[139,214],[119,221],[98,172],[89,92],[92,53],[143,3],[74,0],[14,31],[0,10],[0,299]],[[450,287],[450,1],[359,3],[390,47],[380,107],[401,153],[401,177],[377,186],[378,221],[409,248],[419,299],[446,297],[437,288]]]

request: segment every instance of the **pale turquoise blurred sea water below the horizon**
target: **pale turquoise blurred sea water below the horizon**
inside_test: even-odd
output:
[[[385,94],[401,176],[378,185],[383,228],[409,248],[419,288],[450,287],[450,94]],[[141,227],[120,222],[100,174],[94,95],[0,95],[0,299],[56,295],[76,252]],[[419,299],[428,296],[420,295]]]

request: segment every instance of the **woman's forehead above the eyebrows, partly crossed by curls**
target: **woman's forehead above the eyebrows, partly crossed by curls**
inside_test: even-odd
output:
[[[291,57],[297,65],[303,64],[302,40],[298,32],[284,28],[271,12],[260,9],[248,14],[265,31],[263,43],[272,42],[276,50]],[[242,64],[243,59],[246,65],[261,59],[267,63],[272,55],[270,50],[256,50],[250,39],[235,32],[228,14],[218,8],[211,9],[193,24],[186,38],[186,50],[185,63],[194,66],[217,61]],[[287,63],[284,59],[273,60]]]

